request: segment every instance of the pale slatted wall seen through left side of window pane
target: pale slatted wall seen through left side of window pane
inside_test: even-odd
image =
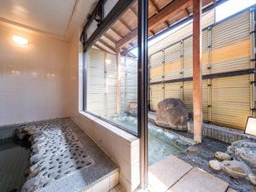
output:
[[[116,57],[90,49],[87,60],[87,110],[102,117],[113,116],[116,113]]]

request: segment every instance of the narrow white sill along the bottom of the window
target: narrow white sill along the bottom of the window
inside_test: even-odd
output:
[[[79,115],[82,116],[83,118],[85,117],[87,119],[90,119],[90,120],[96,122],[96,124],[101,125],[105,129],[108,129],[108,131],[111,131],[114,134],[118,135],[119,137],[124,138],[129,143],[137,143],[135,141],[138,141],[138,137],[132,135],[131,133],[121,130],[119,127],[111,125],[102,119],[96,118],[95,116],[91,115],[90,113],[80,111]]]

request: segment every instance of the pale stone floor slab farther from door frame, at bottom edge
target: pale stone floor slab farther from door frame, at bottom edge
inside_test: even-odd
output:
[[[173,165],[175,166],[175,164]],[[225,192],[229,184],[199,168],[193,168],[169,192]]]

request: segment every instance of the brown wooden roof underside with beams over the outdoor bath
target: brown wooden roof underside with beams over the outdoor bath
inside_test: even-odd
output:
[[[203,8],[216,0],[202,0]],[[192,0],[148,0],[148,38],[154,37],[192,15]],[[110,53],[120,51],[134,56],[128,50],[137,46],[137,2],[99,39],[94,48]]]

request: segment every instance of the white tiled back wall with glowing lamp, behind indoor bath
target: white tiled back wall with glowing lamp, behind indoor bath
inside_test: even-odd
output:
[[[27,38],[18,45],[13,35]],[[68,115],[69,44],[0,24],[0,125]]]

